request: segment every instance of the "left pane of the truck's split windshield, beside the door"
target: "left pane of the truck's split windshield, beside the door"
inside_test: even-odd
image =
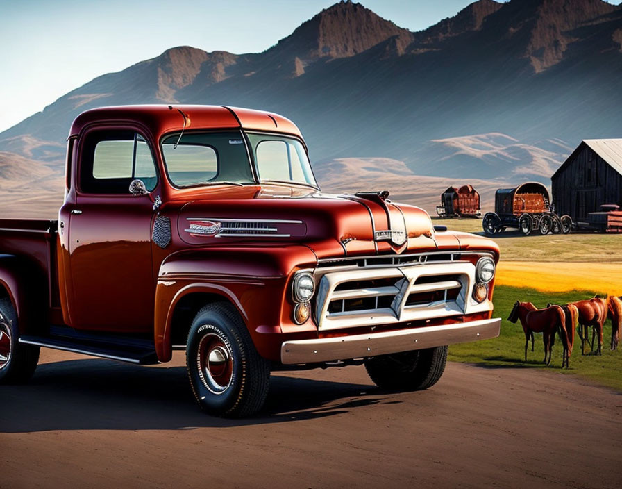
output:
[[[179,140],[179,144],[176,144]],[[162,140],[162,156],[173,185],[255,183],[239,131],[179,133]]]

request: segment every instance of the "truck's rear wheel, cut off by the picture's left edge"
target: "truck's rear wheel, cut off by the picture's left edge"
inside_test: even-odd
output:
[[[29,381],[37,363],[39,347],[17,341],[17,315],[10,299],[0,299],[0,383]]]

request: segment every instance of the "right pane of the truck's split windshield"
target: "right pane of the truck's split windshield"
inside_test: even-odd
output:
[[[260,181],[302,183],[317,187],[303,144],[280,135],[246,133]]]

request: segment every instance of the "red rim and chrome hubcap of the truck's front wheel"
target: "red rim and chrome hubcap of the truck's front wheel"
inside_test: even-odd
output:
[[[197,366],[203,385],[214,394],[222,394],[233,382],[233,355],[223,339],[208,333],[199,343]]]

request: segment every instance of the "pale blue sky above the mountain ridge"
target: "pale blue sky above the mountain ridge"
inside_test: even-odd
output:
[[[260,52],[336,0],[0,0],[0,131],[169,47]],[[469,0],[362,0],[419,31]]]

